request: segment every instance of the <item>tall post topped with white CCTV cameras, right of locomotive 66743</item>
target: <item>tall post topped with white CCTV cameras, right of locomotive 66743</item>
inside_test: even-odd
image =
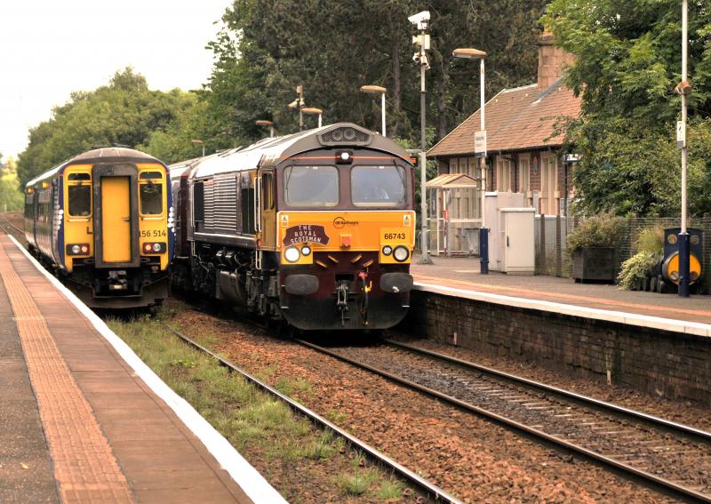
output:
[[[427,49],[429,49],[429,35],[427,22],[429,11],[414,14],[408,20],[417,26],[418,35],[412,37],[412,44],[417,47],[412,60],[419,65],[419,200],[420,200],[420,240],[422,255],[419,264],[432,264],[427,247],[427,90],[425,88],[425,72],[429,69]]]

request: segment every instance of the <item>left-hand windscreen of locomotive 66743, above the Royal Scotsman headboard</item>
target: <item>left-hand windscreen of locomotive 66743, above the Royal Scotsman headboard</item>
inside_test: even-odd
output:
[[[335,166],[287,166],[284,200],[291,206],[336,206],[340,200],[338,169]]]

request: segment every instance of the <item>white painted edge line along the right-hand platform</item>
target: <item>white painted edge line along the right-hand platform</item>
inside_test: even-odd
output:
[[[514,296],[507,296],[503,294],[458,289],[457,287],[425,284],[422,282],[415,282],[415,288],[419,291],[434,292],[435,294],[442,294],[445,296],[484,301],[515,308],[537,309],[541,311],[560,313],[563,315],[603,320],[605,322],[636,325],[651,329],[661,329],[662,331],[682,332],[684,334],[693,334],[695,336],[711,336],[711,324],[701,324],[699,322],[687,322],[685,320],[678,320],[674,318],[638,315],[635,313],[600,308],[583,308],[575,305],[556,303],[553,301],[529,300],[526,298],[516,298]]]

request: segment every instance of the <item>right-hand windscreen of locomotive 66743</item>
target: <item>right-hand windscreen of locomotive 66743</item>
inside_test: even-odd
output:
[[[353,204],[399,206],[405,203],[405,171],[400,166],[354,166],[350,172]]]

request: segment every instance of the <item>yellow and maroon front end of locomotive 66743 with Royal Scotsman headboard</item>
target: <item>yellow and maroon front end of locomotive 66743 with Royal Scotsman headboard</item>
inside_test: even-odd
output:
[[[328,149],[276,170],[276,229],[260,229],[279,258],[279,302],[300,329],[385,329],[410,305],[415,213],[412,166],[368,148]],[[261,184],[272,184],[262,175]],[[269,190],[260,191],[263,197]],[[274,243],[269,243],[269,237]]]

